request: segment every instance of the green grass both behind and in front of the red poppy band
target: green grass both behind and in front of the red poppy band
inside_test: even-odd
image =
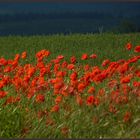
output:
[[[48,61],[62,54],[69,61],[75,55],[80,64],[100,66],[104,59],[116,61],[128,59],[133,50],[126,51],[124,46],[131,42],[133,46],[140,45],[140,33],[135,34],[71,34],[53,36],[9,36],[0,37],[0,56],[6,59],[13,59],[16,53],[21,54],[27,51],[26,63],[35,63],[35,53],[42,49],[51,52]],[[97,54],[95,60],[80,60],[83,53]],[[15,91],[7,87],[10,95]],[[0,106],[0,137],[6,138],[140,138],[140,106],[138,101],[132,102],[133,108],[129,105],[121,106],[123,109],[117,115],[104,115],[100,108],[107,108],[102,105],[99,108],[87,106],[79,107],[74,102],[74,97],[65,99],[64,106],[59,113],[52,113],[43,117],[40,121],[36,117],[37,111],[50,108],[53,104],[51,93],[46,93],[46,102],[36,105],[32,101],[22,99],[14,105],[5,108]],[[2,105],[3,101],[0,101]],[[26,112],[25,108],[29,111]],[[120,108],[121,108],[120,107]],[[135,120],[130,124],[122,122],[124,110],[131,110]],[[101,109],[102,110],[102,109]],[[98,117],[99,122],[94,124],[93,117]],[[46,127],[46,120],[53,119],[54,125]],[[119,120],[119,121],[118,121]],[[62,127],[69,128],[69,134],[61,134]],[[22,133],[23,128],[28,128],[28,133]]]

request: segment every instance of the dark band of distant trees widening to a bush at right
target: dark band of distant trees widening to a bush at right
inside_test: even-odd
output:
[[[27,22],[33,20],[47,20],[47,19],[95,19],[95,20],[115,20],[119,19],[118,25],[111,29],[113,32],[140,32],[140,14],[133,17],[125,17],[121,13],[105,13],[103,11],[88,11],[88,12],[48,12],[48,13],[14,13],[1,14],[0,23],[6,22]],[[104,23],[106,24],[106,23]],[[110,25],[111,26],[111,25]]]

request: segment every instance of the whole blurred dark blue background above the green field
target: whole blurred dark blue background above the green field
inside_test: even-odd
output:
[[[139,2],[0,4],[0,35],[139,31]]]

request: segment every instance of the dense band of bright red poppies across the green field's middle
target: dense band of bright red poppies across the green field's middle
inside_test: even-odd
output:
[[[133,49],[128,43],[126,49]],[[22,96],[30,100],[34,98],[36,104],[46,103],[47,95],[52,96],[54,104],[50,112],[59,112],[65,98],[72,96],[79,106],[91,107],[109,103],[109,111],[117,113],[116,105],[127,104],[133,98],[140,97],[140,46],[134,48],[134,56],[128,60],[111,62],[106,59],[101,66],[79,64],[72,56],[66,61],[63,55],[48,61],[51,54],[48,50],[41,50],[36,54],[36,64],[23,64],[27,53],[16,54],[15,58],[6,60],[0,58],[0,100],[4,104],[15,104],[22,100]],[[81,60],[97,59],[96,54],[83,54]],[[11,89],[15,95],[11,95]],[[128,121],[130,112],[124,115]]]

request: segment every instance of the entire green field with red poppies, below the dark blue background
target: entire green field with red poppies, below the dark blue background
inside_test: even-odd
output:
[[[0,37],[1,138],[140,138],[140,34]]]

